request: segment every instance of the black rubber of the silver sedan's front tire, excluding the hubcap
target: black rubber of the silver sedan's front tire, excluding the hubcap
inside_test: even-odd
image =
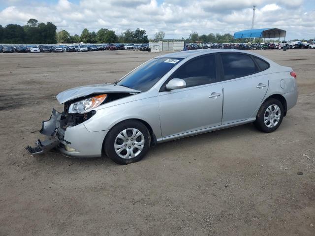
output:
[[[123,130],[132,129],[132,128],[139,130],[143,134],[144,146],[143,146],[143,149],[141,150],[141,152],[137,156],[130,158],[130,159],[125,159],[125,158],[120,157],[116,153],[114,145],[115,145],[116,137]],[[111,128],[109,130],[108,134],[106,135],[103,148],[104,148],[106,155],[109,158],[111,158],[114,162],[116,162],[117,164],[121,164],[121,165],[127,165],[127,164],[130,164],[133,162],[140,161],[147,154],[149,147],[150,147],[150,143],[151,143],[151,135],[150,135],[148,128],[143,123],[141,123],[137,120],[130,119],[130,120],[125,120],[125,121],[122,121],[122,122],[116,124],[113,128]],[[137,148],[135,150],[137,150]]]

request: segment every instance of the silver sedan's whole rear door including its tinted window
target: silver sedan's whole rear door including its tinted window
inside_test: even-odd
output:
[[[259,108],[268,89],[264,60],[242,53],[222,53],[222,125],[246,120]],[[260,63],[260,65],[258,64]]]

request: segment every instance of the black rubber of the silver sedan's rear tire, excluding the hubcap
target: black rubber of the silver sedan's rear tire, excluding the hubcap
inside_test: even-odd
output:
[[[265,113],[267,112],[266,110],[268,109],[268,107],[272,105],[277,105],[280,108],[280,119],[275,126],[267,127],[267,124],[270,124],[271,121],[267,121],[267,124],[265,124],[264,117],[265,117]],[[256,126],[258,130],[265,133],[270,133],[279,128],[283,118],[284,118],[284,106],[282,105],[282,103],[278,99],[269,98],[266,101],[264,101],[261,107],[259,108],[257,116],[256,116],[256,120],[254,121],[254,125]]]

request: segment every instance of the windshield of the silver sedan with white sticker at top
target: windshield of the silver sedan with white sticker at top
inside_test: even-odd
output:
[[[152,59],[126,75],[117,84],[142,92],[147,91],[181,60],[171,58]]]

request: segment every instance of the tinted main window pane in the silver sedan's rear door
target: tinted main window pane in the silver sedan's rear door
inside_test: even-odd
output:
[[[224,80],[231,80],[258,72],[252,58],[245,54],[221,54]]]

